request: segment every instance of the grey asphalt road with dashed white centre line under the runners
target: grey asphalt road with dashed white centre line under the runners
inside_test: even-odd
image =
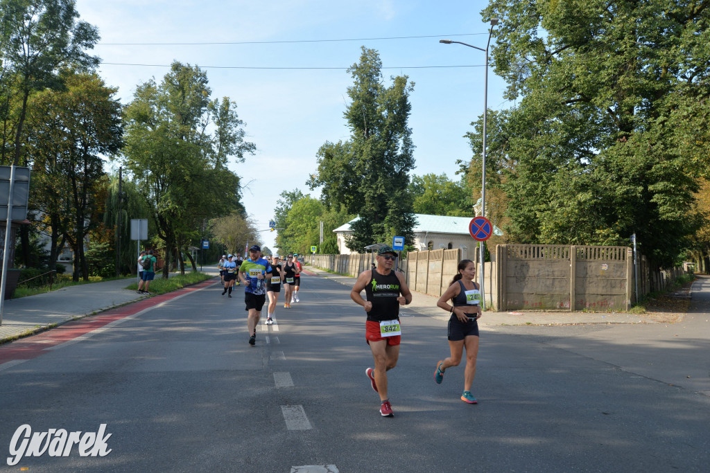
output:
[[[691,472],[710,462],[708,372],[654,368],[670,352],[698,356],[704,336],[669,347],[663,325],[485,328],[469,405],[463,367],[433,381],[449,352],[445,322],[405,308],[389,372],[395,416],[382,418],[365,375],[365,314],[346,286],[304,277],[301,302],[282,300],[255,347],[241,289],[220,294],[194,291],[1,371],[0,471]],[[6,464],[21,425],[104,423],[104,457],[74,447]]]

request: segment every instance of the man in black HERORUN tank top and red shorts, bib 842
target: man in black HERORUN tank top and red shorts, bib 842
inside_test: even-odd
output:
[[[392,270],[395,251],[388,246],[377,252],[376,269],[363,271],[350,291],[350,298],[365,308],[367,313],[366,340],[370,345],[375,367],[365,370],[372,389],[380,396],[380,414],[393,417],[388,398],[387,372],[397,365],[401,341],[400,305],[412,302],[404,274]],[[366,300],[360,295],[365,290]]]

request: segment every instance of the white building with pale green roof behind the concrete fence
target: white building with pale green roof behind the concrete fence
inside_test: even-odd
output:
[[[417,223],[413,228],[414,246],[417,250],[439,250],[444,248],[452,250],[461,248],[463,257],[469,257],[473,254],[473,248],[478,243],[471,237],[469,233],[469,223],[473,217],[447,217],[440,215],[425,215],[423,213],[415,213]],[[359,217],[358,217],[359,218]],[[350,235],[350,224],[357,221],[354,218],[343,226],[339,226],[334,231],[338,240],[338,250],[341,255],[349,255],[352,252],[345,245],[346,235]],[[501,230],[494,228],[496,235],[503,235]],[[383,243],[383,242],[373,242]],[[391,242],[385,242],[391,245]],[[471,248],[471,252],[466,252]]]

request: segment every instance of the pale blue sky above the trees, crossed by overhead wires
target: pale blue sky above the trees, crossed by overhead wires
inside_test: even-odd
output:
[[[257,152],[231,169],[248,185],[243,201],[259,229],[268,228],[281,191],[298,188],[319,196],[305,182],[317,169],[318,148],[349,138],[343,112],[352,79],[345,69],[357,62],[362,45],[378,50],[386,82],[400,74],[415,82],[409,121],[417,147],[412,174],[453,177],[456,161],[472,154],[463,135],[483,113],[485,55],[439,44],[439,39],[485,48],[488,25],[480,14],[485,6],[478,0],[77,0],[81,18],[102,36],[94,50],[104,62],[99,73],[119,87],[122,103],[131,100],[137,84],[153,77],[160,82],[173,60],[202,67],[213,98],[236,101]],[[489,70],[488,108],[508,108],[504,87]],[[273,249],[275,234],[261,235]]]

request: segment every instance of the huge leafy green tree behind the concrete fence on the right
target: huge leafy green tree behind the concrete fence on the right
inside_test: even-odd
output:
[[[518,101],[489,124],[486,162],[504,176],[513,240],[625,245],[635,232],[655,265],[674,264],[698,223],[687,208],[702,146],[677,107],[710,95],[708,6],[493,0],[484,10],[501,18],[493,63]],[[707,114],[690,111],[707,130]]]

